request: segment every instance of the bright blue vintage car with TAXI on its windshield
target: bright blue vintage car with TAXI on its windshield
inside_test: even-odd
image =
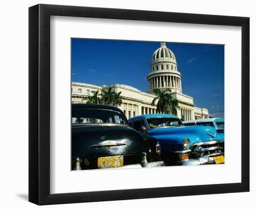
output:
[[[184,126],[169,114],[147,114],[128,120],[141,134],[155,137],[166,165],[224,163],[224,137],[212,126]]]

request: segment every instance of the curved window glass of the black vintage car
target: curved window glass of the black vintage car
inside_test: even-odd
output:
[[[128,125],[126,117],[118,111],[103,109],[73,109],[72,125],[77,124],[124,124]]]

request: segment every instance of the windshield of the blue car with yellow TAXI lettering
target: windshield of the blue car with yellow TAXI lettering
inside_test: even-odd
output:
[[[151,129],[169,127],[169,126],[183,126],[179,118],[148,118],[148,126]]]

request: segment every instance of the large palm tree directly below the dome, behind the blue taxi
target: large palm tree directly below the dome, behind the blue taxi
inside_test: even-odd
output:
[[[170,89],[165,89],[161,91],[160,89],[154,89],[153,93],[157,96],[153,99],[152,105],[155,104],[155,101],[158,99],[156,104],[156,110],[162,113],[167,112],[168,105],[170,105]]]

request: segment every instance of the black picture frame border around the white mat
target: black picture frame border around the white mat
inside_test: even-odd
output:
[[[241,183],[50,194],[50,16],[242,26]],[[240,136],[238,136],[240,137]],[[29,8],[29,202],[38,205],[249,191],[249,18],[39,4]]]

